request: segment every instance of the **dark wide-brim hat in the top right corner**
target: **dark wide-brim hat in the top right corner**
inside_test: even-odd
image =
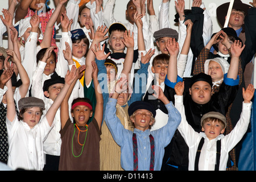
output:
[[[224,24],[225,24],[225,19],[226,19],[225,16],[228,13],[229,3],[230,2],[224,3],[220,6],[218,6],[216,9],[217,19],[222,27],[224,27]],[[245,11],[245,15],[247,15],[247,10],[249,9],[249,7],[252,7],[252,6],[242,3],[241,0],[234,0],[232,9],[238,9],[238,10]]]

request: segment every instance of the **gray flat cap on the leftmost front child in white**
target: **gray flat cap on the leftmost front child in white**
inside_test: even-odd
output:
[[[19,110],[22,110],[24,107],[40,107],[43,110],[46,109],[44,107],[44,101],[36,97],[20,98],[18,105],[19,105]]]

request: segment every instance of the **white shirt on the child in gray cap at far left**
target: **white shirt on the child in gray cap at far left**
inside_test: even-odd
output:
[[[30,129],[26,122],[18,121],[15,115],[13,122],[6,118],[6,126],[9,142],[8,166],[14,170],[43,170],[43,140],[53,125],[49,126],[46,117],[43,117]]]

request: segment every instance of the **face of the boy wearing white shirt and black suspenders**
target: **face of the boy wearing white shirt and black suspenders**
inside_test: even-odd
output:
[[[218,121],[207,121],[204,123],[202,131],[204,131],[209,140],[212,140],[218,137],[218,135],[223,134],[225,129],[222,129],[222,125]]]

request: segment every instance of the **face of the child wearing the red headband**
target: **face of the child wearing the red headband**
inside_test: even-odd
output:
[[[85,126],[89,118],[92,117],[92,114],[93,111],[91,111],[88,106],[84,105],[76,106],[71,113],[77,126]]]

